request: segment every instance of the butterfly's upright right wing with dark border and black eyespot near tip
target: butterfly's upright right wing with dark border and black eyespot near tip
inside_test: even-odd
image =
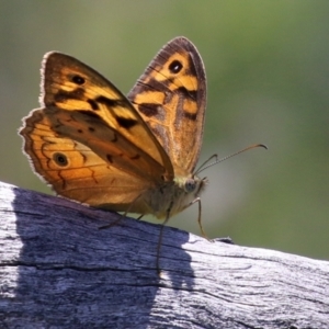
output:
[[[169,42],[127,97],[169,155],[175,174],[192,173],[202,146],[206,77],[195,46]]]

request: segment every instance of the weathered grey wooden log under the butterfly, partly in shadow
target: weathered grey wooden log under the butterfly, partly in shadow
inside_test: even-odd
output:
[[[0,185],[1,328],[329,328],[329,262]]]

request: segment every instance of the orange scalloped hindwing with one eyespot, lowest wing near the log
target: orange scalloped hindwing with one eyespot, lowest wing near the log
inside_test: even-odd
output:
[[[61,196],[113,211],[127,209],[146,188],[145,179],[127,174],[84,144],[61,136],[52,128],[45,111],[35,110],[21,133],[38,175]]]

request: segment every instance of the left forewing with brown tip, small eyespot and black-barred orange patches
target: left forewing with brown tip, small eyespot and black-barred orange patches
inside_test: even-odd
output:
[[[148,155],[155,159],[158,168],[164,168],[166,177],[172,175],[167,154],[129,101],[109,80],[78,59],[60,53],[46,54],[42,101],[47,109],[56,106],[71,113],[79,112],[86,121],[103,127],[104,135],[105,128],[115,132],[144,157]],[[115,144],[105,137],[103,141]],[[117,148],[124,151],[121,145]],[[147,169],[152,172],[151,168]]]

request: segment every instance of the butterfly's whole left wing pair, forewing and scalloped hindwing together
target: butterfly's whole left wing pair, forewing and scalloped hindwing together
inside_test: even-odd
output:
[[[129,101],[73,57],[45,55],[41,103],[20,134],[34,169],[58,194],[125,205],[173,179],[168,155]]]

